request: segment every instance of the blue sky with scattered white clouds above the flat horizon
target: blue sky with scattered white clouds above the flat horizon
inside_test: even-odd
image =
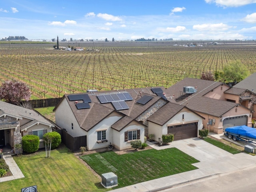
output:
[[[256,0],[0,0],[0,38],[255,40]]]

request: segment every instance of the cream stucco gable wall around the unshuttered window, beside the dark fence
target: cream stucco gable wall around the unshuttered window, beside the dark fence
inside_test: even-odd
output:
[[[120,118],[122,118],[122,115],[114,112],[110,114],[110,116],[102,120],[99,124],[94,126],[92,129],[90,129],[87,134],[87,149],[95,150],[95,149],[108,147],[110,142],[112,143],[112,140],[113,140],[113,130],[110,126],[115,122],[117,122]],[[106,130],[106,140],[108,140],[108,142],[97,143],[98,130]]]

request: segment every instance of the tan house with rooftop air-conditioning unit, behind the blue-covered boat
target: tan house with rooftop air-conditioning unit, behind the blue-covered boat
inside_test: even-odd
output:
[[[190,91],[186,92],[186,88]],[[184,105],[204,117],[204,128],[220,134],[227,127],[251,126],[253,111],[230,102],[229,89],[231,87],[222,82],[185,78],[165,92],[170,102]]]

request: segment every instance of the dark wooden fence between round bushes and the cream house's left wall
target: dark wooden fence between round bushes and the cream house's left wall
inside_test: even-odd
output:
[[[85,147],[86,136],[72,137],[65,129],[54,130],[61,135],[62,143],[66,145],[72,152],[80,150],[80,147]]]

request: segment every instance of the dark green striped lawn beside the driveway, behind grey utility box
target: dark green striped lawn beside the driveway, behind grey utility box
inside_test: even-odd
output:
[[[150,149],[123,155],[111,151],[80,158],[99,175],[114,172],[118,176],[115,188],[194,170],[197,168],[191,164],[198,162],[177,148]]]

